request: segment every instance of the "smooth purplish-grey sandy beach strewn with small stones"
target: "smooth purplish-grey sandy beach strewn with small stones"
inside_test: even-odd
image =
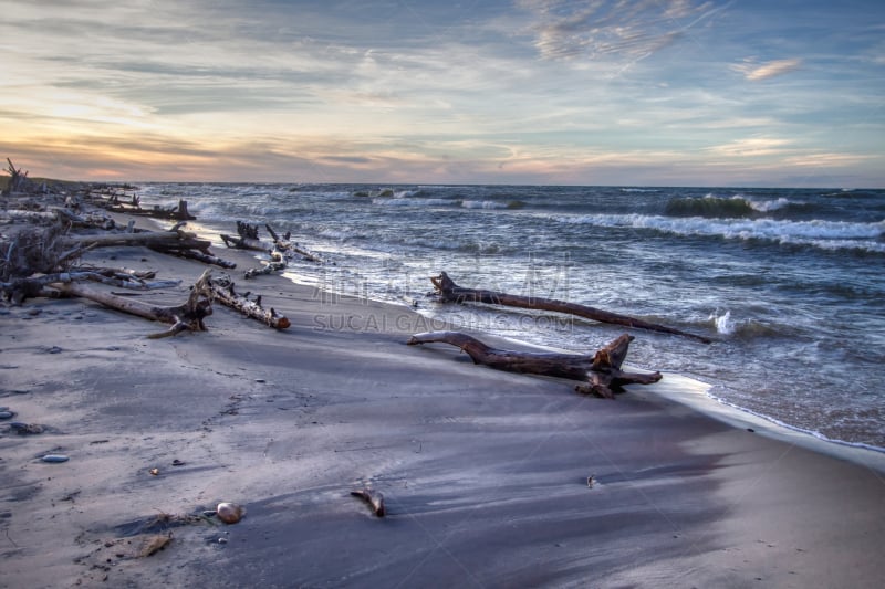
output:
[[[142,295],[160,304],[184,301],[206,267],[142,248],[90,260],[183,278]],[[279,276],[249,287],[293,326],[216,306],[208,333],[152,340],[164,326],[80,299],[2,312],[0,406],[44,431],[0,422],[0,587],[885,578],[885,475],[871,465],[710,419],[665,398],[679,387],[667,375],[616,401],[584,398],[448,346],[406,346],[431,327],[406,308]],[[363,486],[384,494],[386,517],[350,496]],[[219,501],[247,517],[180,517]],[[139,557],[158,534],[168,546]]]

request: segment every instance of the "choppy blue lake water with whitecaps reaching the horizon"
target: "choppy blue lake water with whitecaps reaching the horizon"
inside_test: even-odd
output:
[[[438,305],[428,277],[705,335],[634,332],[628,361],[819,437],[885,449],[885,190],[177,185],[199,222],[271,223],[330,263],[288,275],[574,351],[623,328]],[[223,252],[221,252],[223,255]]]

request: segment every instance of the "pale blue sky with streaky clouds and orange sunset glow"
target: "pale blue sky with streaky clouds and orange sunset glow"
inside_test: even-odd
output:
[[[885,2],[0,0],[0,157],[107,181],[885,187]]]

